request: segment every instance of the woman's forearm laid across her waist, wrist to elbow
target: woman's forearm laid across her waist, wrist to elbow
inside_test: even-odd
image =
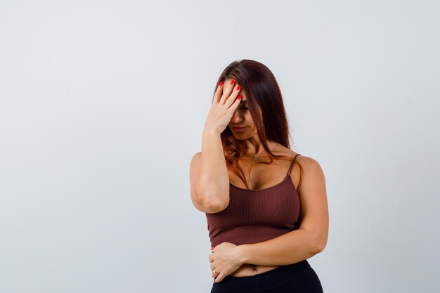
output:
[[[298,229],[264,242],[240,245],[240,253],[242,263],[283,266],[309,259],[324,247],[323,240],[307,230]]]

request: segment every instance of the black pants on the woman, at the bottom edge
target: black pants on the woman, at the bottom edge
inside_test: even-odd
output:
[[[249,277],[228,275],[212,285],[211,293],[323,293],[323,287],[307,261],[280,266]]]

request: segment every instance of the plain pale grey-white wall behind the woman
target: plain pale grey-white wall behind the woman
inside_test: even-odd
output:
[[[321,163],[325,292],[439,292],[438,1],[0,1],[0,292],[205,293],[189,163],[233,60]]]

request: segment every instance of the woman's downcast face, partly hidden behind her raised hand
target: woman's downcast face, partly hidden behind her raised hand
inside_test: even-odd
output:
[[[228,124],[235,138],[239,140],[245,140],[252,136],[257,136],[257,127],[254,124],[254,120],[250,114],[249,107],[247,105],[247,96],[244,91],[240,91],[242,99],[240,105],[232,115],[231,121]]]

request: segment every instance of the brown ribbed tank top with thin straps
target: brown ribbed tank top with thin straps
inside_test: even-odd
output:
[[[298,155],[292,159],[287,176],[276,185],[251,190],[230,183],[228,207],[206,214],[212,247],[222,242],[262,242],[298,228],[299,195],[290,178]]]

